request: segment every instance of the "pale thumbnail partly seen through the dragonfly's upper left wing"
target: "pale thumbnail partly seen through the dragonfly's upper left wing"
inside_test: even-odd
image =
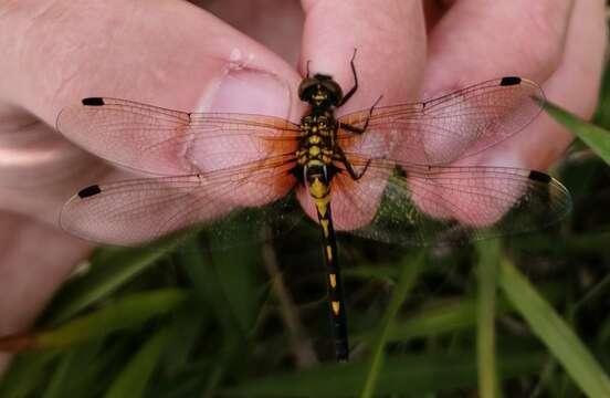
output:
[[[199,122],[197,132],[193,132],[197,138],[189,140],[183,151],[185,159],[202,174],[235,168],[252,172],[250,168],[255,161],[281,155],[276,153],[277,145],[270,138],[284,134],[281,129],[283,122],[267,116],[287,119],[291,104],[291,87],[278,76],[248,67],[228,69],[218,85],[208,90],[200,101],[198,111],[210,114],[211,118]],[[222,115],[214,118],[214,113],[245,116],[232,118],[231,115]],[[232,188],[224,189],[229,198],[218,192],[214,197],[224,200],[234,196],[252,198],[254,195],[248,186],[233,184]]]

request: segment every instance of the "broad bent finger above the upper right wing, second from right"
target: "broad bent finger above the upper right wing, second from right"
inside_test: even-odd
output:
[[[454,2],[430,34],[424,96],[502,76],[517,75],[541,84],[561,59],[570,11],[570,0]],[[476,133],[464,128],[464,134],[448,136],[442,145],[427,145],[424,137],[424,146],[431,148],[428,156],[440,160],[444,150],[459,148]],[[432,151],[435,148],[439,155]]]

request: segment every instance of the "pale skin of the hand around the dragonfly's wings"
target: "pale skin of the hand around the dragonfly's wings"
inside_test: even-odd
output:
[[[303,0],[304,11],[284,1],[250,1],[245,11],[240,1],[211,4],[245,34],[178,0],[2,2],[0,335],[27,328],[92,249],[59,229],[62,203],[86,185],[122,177],[90,154],[94,138],[77,148],[52,127],[82,97],[298,121],[303,104],[294,95],[287,103],[285,88],[298,85],[306,62],[347,90],[357,48],[360,88],[339,115],[368,108],[381,94],[386,104],[408,102],[503,75],[540,83],[549,100],[582,117],[595,109],[606,49],[602,0],[424,3]],[[235,60],[284,85],[224,84],[223,65]],[[570,140],[540,116],[469,163],[545,169]]]

